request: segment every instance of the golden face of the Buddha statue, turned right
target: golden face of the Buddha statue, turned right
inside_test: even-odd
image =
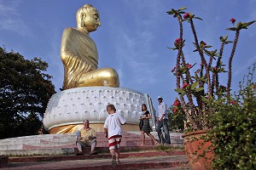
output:
[[[100,15],[96,10],[91,10],[86,13],[84,26],[89,32],[96,31],[97,27],[101,26]]]

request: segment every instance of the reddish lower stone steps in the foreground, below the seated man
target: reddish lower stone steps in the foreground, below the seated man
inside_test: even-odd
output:
[[[189,169],[183,150],[160,151],[148,150],[121,152],[121,163],[112,167],[109,154],[96,156],[28,156],[9,157],[9,163],[2,167],[5,170],[55,169],[55,170],[108,170],[108,169]]]

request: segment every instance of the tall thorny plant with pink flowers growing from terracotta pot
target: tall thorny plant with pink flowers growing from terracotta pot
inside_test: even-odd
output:
[[[236,27],[227,29],[236,31],[236,38],[233,42],[233,48],[229,59],[229,79],[226,89],[224,86],[219,85],[218,74],[220,72],[225,72],[221,59],[223,57],[224,45],[230,43],[230,41],[227,41],[228,37],[219,37],[221,40],[219,54],[217,49],[208,50],[207,48],[212,48],[212,46],[207,45],[207,43],[203,41],[199,42],[195,31],[194,20],[201,20],[201,18],[195,17],[195,14],[185,13],[183,11],[185,9],[187,8],[179,8],[177,10],[172,8],[172,10],[167,12],[167,14],[172,14],[174,18],[177,18],[179,24],[179,37],[174,42],[175,47],[170,48],[177,50],[176,66],[172,69],[172,72],[174,72],[174,75],[176,76],[175,91],[179,94],[180,98],[180,101],[176,99],[173,105],[175,109],[174,112],[181,108],[181,110],[186,113],[188,121],[190,122],[190,127],[194,129],[201,129],[211,127],[211,125],[207,125],[209,121],[207,120],[207,117],[209,114],[214,112],[214,109],[209,108],[207,98],[213,99],[214,95],[221,97],[225,90],[227,93],[226,95],[228,97],[230,96],[231,64],[236,52],[239,32],[241,29],[247,29],[247,26],[250,26],[255,21],[248,23],[239,22]],[[194,65],[187,63],[183,54],[183,48],[185,46],[185,40],[183,40],[183,21],[188,21],[190,24],[191,31],[195,39],[195,42],[193,42],[195,46],[194,52],[197,51],[200,56],[200,68],[195,71],[194,77],[191,77],[190,71],[196,65],[196,63]],[[230,21],[233,25],[236,22],[235,19],[231,19]],[[205,55],[208,56],[209,59],[206,59]],[[218,60],[216,60],[217,58]],[[216,66],[212,66],[214,61],[213,59],[216,60]],[[183,82],[182,87],[181,82]],[[207,88],[207,94],[205,94],[205,88]],[[184,97],[186,97],[186,99]],[[186,100],[188,101],[187,104]]]

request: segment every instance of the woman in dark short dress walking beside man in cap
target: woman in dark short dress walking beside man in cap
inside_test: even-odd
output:
[[[159,145],[160,143],[154,139],[154,136],[150,133],[152,132],[152,129],[150,127],[150,124],[149,124],[149,119],[151,118],[150,114],[149,114],[149,111],[147,110],[147,105],[143,104],[142,105],[142,111],[143,111],[143,116],[141,116],[141,120],[143,120],[143,126],[142,126],[142,139],[143,139],[143,144],[141,145],[144,145],[145,144],[145,133],[148,134],[148,136],[154,141],[154,145]]]

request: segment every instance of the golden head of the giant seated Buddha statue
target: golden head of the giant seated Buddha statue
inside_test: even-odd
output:
[[[79,8],[77,12],[77,24],[78,29],[91,32],[96,31],[98,26],[101,26],[100,14],[96,8],[90,4],[85,4],[82,8]]]

